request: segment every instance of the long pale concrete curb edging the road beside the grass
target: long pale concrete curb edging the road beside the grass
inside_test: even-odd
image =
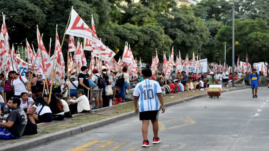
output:
[[[228,91],[235,91],[235,90],[247,89],[247,88],[250,88],[250,87],[234,88],[234,89],[230,89]],[[224,93],[224,92],[227,92],[227,91],[223,90],[222,93]],[[172,106],[172,105],[175,105],[175,104],[182,103],[184,100],[185,101],[190,101],[190,100],[200,98],[200,97],[204,97],[204,96],[207,96],[207,94],[200,94],[200,95],[195,95],[195,96],[187,97],[187,98],[180,99],[180,100],[175,100],[175,101],[172,101],[172,102],[169,102],[169,103],[165,103],[164,106],[165,107]],[[105,119],[102,119],[102,120],[99,120],[99,121],[86,123],[86,124],[83,124],[83,125],[80,125],[80,126],[77,126],[77,127],[64,129],[64,130],[61,130],[59,132],[54,132],[54,133],[43,135],[43,136],[40,136],[40,137],[37,137],[37,138],[32,138],[32,139],[21,141],[21,142],[14,143],[14,144],[8,144],[8,145],[5,145],[5,146],[2,146],[0,148],[0,150],[17,150],[17,151],[27,150],[29,148],[38,147],[38,146],[43,145],[45,143],[50,143],[50,142],[53,142],[53,141],[57,141],[59,139],[65,138],[65,137],[76,135],[76,134],[79,134],[79,133],[82,133],[82,132],[85,132],[85,131],[88,131],[88,130],[91,130],[91,129],[94,129],[94,128],[98,128],[100,126],[104,126],[104,125],[107,125],[107,124],[110,124],[110,123],[114,123],[114,122],[117,122],[119,120],[130,118],[130,117],[132,117],[134,115],[137,115],[137,114],[135,114],[135,112],[133,112],[133,111],[127,112],[127,113],[124,113],[124,114],[121,114],[121,115],[113,116],[111,118],[105,118]]]

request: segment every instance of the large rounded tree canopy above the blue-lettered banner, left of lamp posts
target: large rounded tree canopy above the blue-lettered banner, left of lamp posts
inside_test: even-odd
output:
[[[173,40],[175,54],[178,50],[182,56],[197,53],[201,45],[207,44],[209,31],[200,18],[194,16],[192,8],[173,7],[168,18],[160,18],[159,25],[165,27],[165,33]]]

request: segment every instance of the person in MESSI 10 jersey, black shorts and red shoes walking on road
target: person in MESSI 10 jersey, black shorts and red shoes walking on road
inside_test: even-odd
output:
[[[135,113],[139,114],[140,121],[142,121],[142,135],[144,139],[142,147],[149,147],[149,120],[151,120],[153,127],[153,144],[158,144],[161,141],[161,139],[158,137],[160,103],[162,113],[165,112],[165,108],[160,84],[157,81],[150,80],[152,71],[149,68],[144,68],[141,73],[144,80],[135,86],[133,96]]]

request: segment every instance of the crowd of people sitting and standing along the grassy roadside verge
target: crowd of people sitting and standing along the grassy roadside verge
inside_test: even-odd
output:
[[[235,78],[242,76],[240,72],[236,75]],[[26,130],[28,134],[37,133],[29,132],[37,127],[36,123],[60,121],[64,118],[72,118],[72,115],[77,113],[88,113],[95,109],[134,100],[135,86],[144,80],[140,74],[129,76],[126,67],[123,67],[122,71],[110,71],[108,74],[96,68],[88,72],[88,68],[82,66],[79,74],[71,74],[69,77],[68,79],[66,76],[64,83],[53,82],[51,85],[51,81],[45,80],[40,73],[35,75],[31,71],[26,71],[25,76],[20,76],[16,71],[10,71],[6,76],[1,73],[0,113],[1,120],[8,122],[0,122],[4,132],[0,133],[0,139],[19,138],[23,134],[27,135]],[[223,73],[189,73],[188,75],[185,71],[178,73],[172,71],[172,74],[165,76],[158,71],[150,79],[160,84],[164,95],[195,91],[206,88],[210,84],[227,85],[231,74],[225,70]],[[49,94],[47,90],[51,86],[52,91]]]

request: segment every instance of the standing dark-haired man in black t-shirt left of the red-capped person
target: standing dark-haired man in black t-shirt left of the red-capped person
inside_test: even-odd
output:
[[[86,76],[87,72],[88,72],[87,67],[86,66],[82,66],[81,67],[81,72],[77,76],[77,79],[79,80],[79,84],[77,86],[77,89],[83,89],[84,92],[85,92],[85,96],[86,97],[88,97],[88,91],[91,90],[90,84],[89,84],[88,79],[87,79],[87,76]]]

